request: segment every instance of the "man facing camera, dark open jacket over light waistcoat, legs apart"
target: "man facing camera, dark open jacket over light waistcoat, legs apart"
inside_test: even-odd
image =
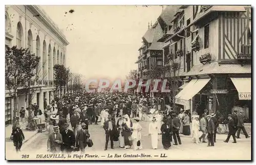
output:
[[[111,149],[114,149],[114,130],[116,128],[116,125],[115,125],[115,122],[111,120],[112,118],[113,117],[109,115],[108,121],[105,121],[103,126],[106,134],[105,150],[108,149],[109,139],[110,139]]]

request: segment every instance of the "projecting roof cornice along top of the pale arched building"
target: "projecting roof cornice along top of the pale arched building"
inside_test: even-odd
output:
[[[40,21],[49,28],[53,34],[56,34],[58,38],[67,46],[69,45],[68,40],[63,35],[63,33],[58,29],[57,25],[51,20],[51,18],[46,14],[44,10],[39,8],[37,5],[26,5],[27,9],[34,15],[40,15]]]

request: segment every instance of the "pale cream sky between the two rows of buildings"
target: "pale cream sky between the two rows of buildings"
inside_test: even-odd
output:
[[[124,79],[137,69],[138,49],[148,22],[162,6],[41,6],[63,30],[67,66],[89,78]],[[73,13],[69,10],[73,9]],[[65,14],[65,12],[67,12]]]

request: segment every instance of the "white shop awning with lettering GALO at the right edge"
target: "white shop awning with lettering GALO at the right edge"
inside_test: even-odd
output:
[[[231,77],[230,79],[238,91],[239,100],[251,100],[251,78]]]

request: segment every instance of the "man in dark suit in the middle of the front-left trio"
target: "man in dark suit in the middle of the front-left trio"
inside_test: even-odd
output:
[[[64,124],[64,131],[61,132],[63,144],[61,145],[61,151],[71,153],[76,143],[75,134],[69,129],[69,124]]]

